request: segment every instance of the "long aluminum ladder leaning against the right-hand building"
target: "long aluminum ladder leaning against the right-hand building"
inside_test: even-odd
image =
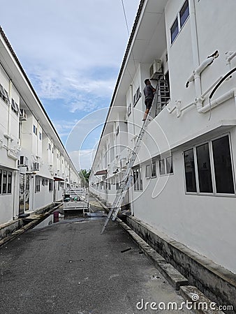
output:
[[[154,96],[154,100],[155,100],[155,98],[156,98],[156,94]],[[153,100],[153,103],[154,103],[154,100]],[[151,112],[151,110],[149,111],[149,113],[150,112]],[[124,173],[124,175],[121,179],[121,183],[120,183],[119,188],[117,190],[117,195],[116,195],[115,200],[112,204],[112,207],[108,213],[108,217],[105,220],[105,223],[103,225],[103,229],[101,230],[101,234],[103,234],[105,227],[108,225],[110,218],[112,217],[113,221],[115,220],[115,218],[117,218],[119,208],[121,207],[121,204],[124,200],[124,197],[126,196],[126,192],[128,190],[128,187],[131,184],[131,181],[133,179],[133,175],[131,174],[132,167],[133,167],[135,159],[138,155],[138,151],[139,151],[140,146],[141,146],[142,138],[145,135],[145,128],[149,124],[149,121],[150,120],[149,120],[149,114],[148,114],[146,120],[142,124],[142,128],[140,129],[140,133],[138,135],[135,147],[134,147],[133,151],[131,152],[131,156],[130,156],[130,158],[128,158],[126,172]]]

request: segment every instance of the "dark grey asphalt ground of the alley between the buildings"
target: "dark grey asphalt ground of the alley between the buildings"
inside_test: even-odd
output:
[[[0,248],[0,313],[192,313],[159,308],[185,300],[117,223],[100,234],[104,217],[91,204],[90,220],[38,226]]]

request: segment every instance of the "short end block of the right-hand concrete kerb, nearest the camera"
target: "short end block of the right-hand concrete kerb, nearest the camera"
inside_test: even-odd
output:
[[[198,314],[224,314],[214,302],[192,285],[180,287],[179,292],[185,300],[193,304],[194,311]]]

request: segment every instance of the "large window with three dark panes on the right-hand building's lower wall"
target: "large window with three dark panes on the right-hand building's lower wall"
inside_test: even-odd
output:
[[[184,151],[186,192],[235,194],[229,136]]]

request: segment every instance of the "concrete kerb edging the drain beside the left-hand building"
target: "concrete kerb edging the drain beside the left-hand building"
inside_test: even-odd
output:
[[[7,237],[4,237],[3,239],[0,240],[0,248],[3,245],[6,245],[8,242],[12,241],[13,239],[17,238],[20,236],[20,234],[23,234],[24,232],[26,232],[27,230],[31,229],[32,227],[35,227],[36,225],[38,225],[39,223],[41,223],[45,218],[47,218],[48,216],[50,216],[50,214],[52,214],[53,211],[55,211],[57,208],[59,208],[61,206],[61,204],[58,204],[56,207],[53,207],[52,209],[50,209],[49,211],[47,211],[44,214],[39,214],[37,218],[35,218],[34,220],[32,220],[31,222],[27,223],[27,225],[24,225],[23,227],[21,227],[18,230],[15,230],[14,232],[12,232],[10,235],[8,235]],[[35,215],[35,214],[34,214]],[[29,216],[30,217],[30,216]]]

